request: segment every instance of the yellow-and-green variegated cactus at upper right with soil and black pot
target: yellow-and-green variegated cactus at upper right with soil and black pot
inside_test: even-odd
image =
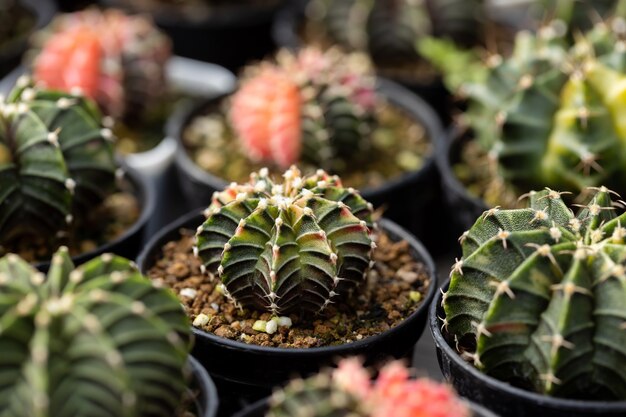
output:
[[[468,106],[437,156],[463,230],[531,189],[624,189],[623,23],[599,23],[573,45],[559,25],[522,32],[510,57],[491,55],[486,66],[451,49],[439,55]]]

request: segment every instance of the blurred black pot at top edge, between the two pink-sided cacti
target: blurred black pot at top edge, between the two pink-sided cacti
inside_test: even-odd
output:
[[[106,7],[150,15],[177,55],[231,71],[274,49],[270,28],[287,0],[100,0]]]

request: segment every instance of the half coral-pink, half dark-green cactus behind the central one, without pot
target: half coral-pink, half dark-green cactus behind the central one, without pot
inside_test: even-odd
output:
[[[283,50],[275,64],[247,69],[229,117],[251,160],[281,168],[303,160],[337,172],[370,148],[375,101],[363,56]]]

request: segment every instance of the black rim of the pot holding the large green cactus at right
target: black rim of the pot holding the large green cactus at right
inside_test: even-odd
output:
[[[618,412],[623,411],[626,413],[626,401],[586,401],[586,400],[572,400],[567,398],[549,397],[547,395],[538,394],[535,392],[527,391],[521,388],[514,387],[506,382],[500,381],[493,377],[490,377],[468,362],[461,359],[459,354],[448,345],[448,342],[443,337],[441,327],[439,325],[438,313],[445,316],[441,307],[442,292],[448,289],[450,285],[450,278],[441,286],[441,291],[438,291],[434,300],[430,305],[430,311],[428,314],[428,323],[430,332],[435,340],[435,346],[441,349],[443,354],[450,358],[456,366],[463,369],[472,378],[479,380],[481,383],[487,385],[490,389],[504,391],[511,396],[517,396],[523,398],[525,401],[532,402],[541,406],[549,406],[551,408],[558,408],[560,410],[572,410],[581,411],[585,409],[589,410],[601,410],[605,412]]]

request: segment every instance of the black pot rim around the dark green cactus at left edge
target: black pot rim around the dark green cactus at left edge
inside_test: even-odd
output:
[[[124,170],[124,177],[131,183],[134,193],[133,195],[139,200],[141,204],[141,213],[139,214],[139,218],[133,223],[131,227],[126,229],[124,233],[122,233],[117,238],[104,243],[103,245],[98,246],[97,248],[90,250],[88,252],[80,253],[76,256],[72,256],[72,262],[75,265],[80,265],[87,262],[89,259],[95,258],[96,256],[111,252],[111,249],[114,246],[117,246],[124,240],[129,237],[140,232],[141,228],[143,228],[152,217],[154,210],[156,208],[156,188],[155,185],[149,181],[144,175],[141,175],[139,171],[125,163],[120,164]],[[39,270],[48,269],[50,267],[49,261],[40,261],[31,263],[33,267]]]

